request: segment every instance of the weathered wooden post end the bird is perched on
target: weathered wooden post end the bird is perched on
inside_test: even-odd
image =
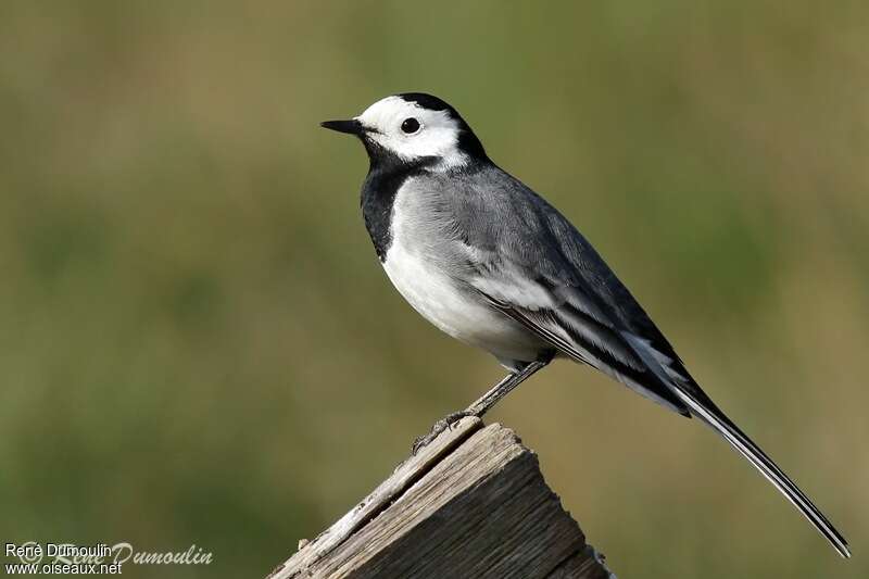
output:
[[[615,577],[501,425],[464,418],[275,569],[290,578]]]

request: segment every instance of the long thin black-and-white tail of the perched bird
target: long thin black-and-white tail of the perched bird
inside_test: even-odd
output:
[[[809,523],[811,523],[818,532],[820,532],[830,544],[833,545],[840,555],[847,558],[851,556],[848,543],[842,533],[840,533],[832,524],[827,520],[815,504],[805,495],[794,482],[788,478],[781,468],[778,467],[772,460],[766,455],[760,448],[755,444],[745,433],[740,430],[725,414],[713,405],[711,408],[708,404],[695,400],[693,395],[684,392],[681,388],[676,386],[673,388],[676,394],[691,408],[691,414],[700,418],[705,424],[709,425],[716,432],[725,438],[730,444],[736,449],[740,454],[745,456],[755,468],[757,468],[767,480],[769,480],[785,499],[791,501],[793,505],[803,513]]]

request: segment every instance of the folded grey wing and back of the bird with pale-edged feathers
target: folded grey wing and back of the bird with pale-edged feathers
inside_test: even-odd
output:
[[[689,416],[670,380],[702,391],[588,241],[509,175],[475,177],[454,201],[474,264],[466,281],[558,352]]]

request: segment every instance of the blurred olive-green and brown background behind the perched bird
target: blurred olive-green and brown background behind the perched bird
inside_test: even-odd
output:
[[[867,577],[865,2],[3,2],[0,534],[260,577],[501,369],[389,285],[322,130],[453,103],[851,540],[556,364],[490,420],[620,577]]]

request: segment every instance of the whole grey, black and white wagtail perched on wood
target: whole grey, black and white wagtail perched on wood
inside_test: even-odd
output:
[[[499,167],[458,112],[404,92],[324,128],[357,137],[369,161],[365,226],[387,276],[423,317],[495,356],[508,374],[438,420],[414,453],[465,416],[482,416],[553,360],[585,364],[720,435],[843,557],[845,538],[701,389],[591,243]]]

